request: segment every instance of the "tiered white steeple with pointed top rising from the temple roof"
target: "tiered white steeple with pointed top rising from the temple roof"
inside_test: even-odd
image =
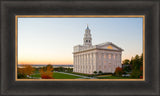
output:
[[[88,27],[88,24],[87,24],[87,28],[85,30],[85,34],[84,34],[84,38],[83,38],[83,45],[84,46],[92,46],[92,37],[91,37],[91,33],[90,33],[90,29]]]

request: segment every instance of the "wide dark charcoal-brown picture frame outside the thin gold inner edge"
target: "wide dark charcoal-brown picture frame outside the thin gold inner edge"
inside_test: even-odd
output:
[[[160,96],[159,0],[0,0],[0,96]],[[145,15],[145,81],[15,81],[16,15]]]

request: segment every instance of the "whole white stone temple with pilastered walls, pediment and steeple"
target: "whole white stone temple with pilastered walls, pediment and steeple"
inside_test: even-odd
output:
[[[91,31],[87,25],[83,45],[74,46],[73,72],[94,74],[94,71],[114,73],[116,67],[122,67],[121,55],[123,49],[112,42],[92,45]]]

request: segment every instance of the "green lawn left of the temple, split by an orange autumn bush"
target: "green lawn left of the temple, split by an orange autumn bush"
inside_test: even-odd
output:
[[[40,73],[36,73],[36,74],[33,74],[31,77],[33,77],[33,78],[40,78],[41,75],[40,75]],[[53,78],[54,79],[77,79],[77,78],[81,78],[81,77],[54,72],[53,73]]]

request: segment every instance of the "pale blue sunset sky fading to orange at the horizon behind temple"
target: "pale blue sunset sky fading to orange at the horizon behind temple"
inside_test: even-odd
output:
[[[143,18],[18,18],[18,64],[73,64],[73,46],[112,42],[122,60],[143,52]]]

